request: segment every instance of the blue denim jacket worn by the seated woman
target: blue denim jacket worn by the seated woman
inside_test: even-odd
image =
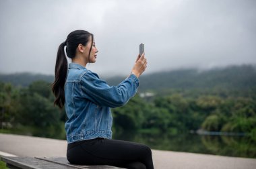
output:
[[[135,95],[139,79],[134,74],[110,87],[84,66],[70,63],[65,82],[67,143],[112,137],[110,107],[125,105]]]

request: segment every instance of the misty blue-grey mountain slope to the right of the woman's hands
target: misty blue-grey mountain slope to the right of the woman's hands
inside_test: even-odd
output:
[[[229,66],[212,70],[195,69],[159,72],[141,76],[141,87],[148,89],[248,88],[256,87],[255,66]]]

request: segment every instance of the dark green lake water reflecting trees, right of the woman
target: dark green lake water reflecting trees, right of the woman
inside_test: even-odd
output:
[[[114,138],[146,144],[155,150],[256,158],[256,139],[249,136],[125,133]]]

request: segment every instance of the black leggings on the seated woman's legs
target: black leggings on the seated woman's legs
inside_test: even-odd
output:
[[[96,138],[67,145],[71,164],[110,165],[122,168],[154,168],[152,152],[143,144]]]

